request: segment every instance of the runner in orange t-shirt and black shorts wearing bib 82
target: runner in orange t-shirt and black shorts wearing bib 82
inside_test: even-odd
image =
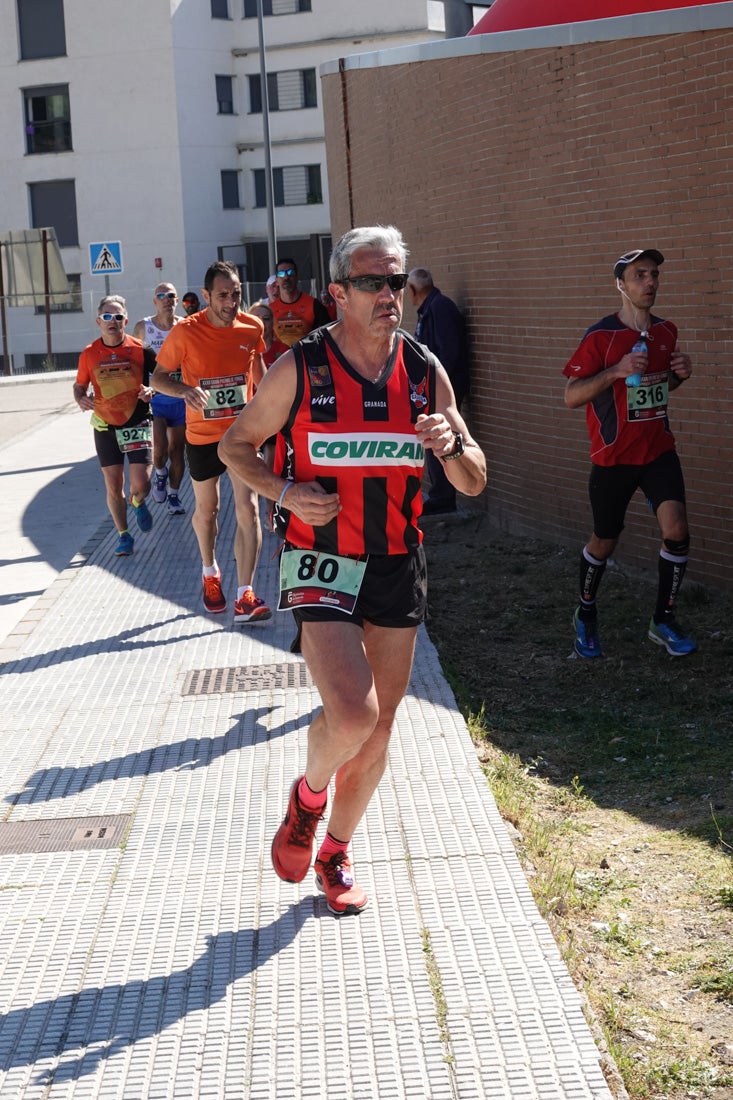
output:
[[[186,458],[196,499],[192,525],[201,553],[204,606],[218,614],[227,609],[216,559],[219,479],[227,466],[217,448],[262,381],[265,346],[262,321],[240,312],[242,287],[234,264],[211,264],[203,293],[207,308],[171,330],[157,353],[151,384],[156,392],[183,397],[186,403]],[[174,375],[177,371],[179,381]],[[239,584],[234,624],[241,625],[269,619],[272,613],[252,587],[262,547],[258,496],[239,479],[230,480]]]

